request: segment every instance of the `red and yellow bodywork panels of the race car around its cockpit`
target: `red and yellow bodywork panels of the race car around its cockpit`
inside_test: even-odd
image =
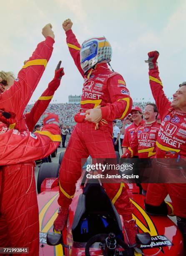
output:
[[[61,255],[85,255],[85,243],[75,243],[73,241],[73,220],[78,205],[78,199],[83,193],[83,187],[79,180],[76,185],[75,197],[70,205],[70,212],[66,228],[63,230],[63,243],[68,244],[70,249],[64,249],[62,245],[48,246],[46,235],[48,231],[53,232],[53,222],[58,214],[58,178],[47,178],[41,185],[41,193],[38,194],[39,220],[40,220],[40,255],[61,256]],[[141,246],[141,251],[145,255],[158,256],[183,255],[183,241],[181,232],[168,217],[148,215],[144,211],[144,196],[138,194],[136,184],[129,185],[130,200],[134,205],[133,218],[142,232],[151,235],[151,245]],[[121,220],[122,222],[122,220]],[[123,224],[123,223],[122,223]],[[102,255],[99,247],[91,248],[90,255]],[[134,255],[141,256],[135,252]]]

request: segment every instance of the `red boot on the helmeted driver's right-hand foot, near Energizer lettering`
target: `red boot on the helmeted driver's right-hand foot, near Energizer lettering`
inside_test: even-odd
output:
[[[128,238],[128,243],[133,246],[136,243],[136,234],[138,234],[138,228],[136,225],[136,220],[124,220],[123,219],[124,228],[126,231],[126,236]]]

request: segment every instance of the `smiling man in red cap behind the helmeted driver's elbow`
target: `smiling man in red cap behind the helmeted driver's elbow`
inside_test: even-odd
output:
[[[133,138],[133,133],[138,128],[140,125],[144,123],[143,114],[142,114],[141,108],[138,106],[135,106],[131,110],[131,118],[133,119],[133,124],[129,125],[126,130],[125,130],[125,136],[123,138],[123,143],[122,143],[122,151],[123,154],[127,151],[127,149],[130,147],[132,138]],[[138,152],[134,152],[133,154],[134,157],[138,157]]]

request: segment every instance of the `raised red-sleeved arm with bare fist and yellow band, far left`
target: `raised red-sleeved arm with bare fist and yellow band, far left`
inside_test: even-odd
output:
[[[54,33],[52,25],[47,24],[42,31],[45,41],[38,44],[28,61],[18,73],[18,78],[10,89],[0,94],[1,108],[15,113],[18,121],[25,110],[53,51]]]

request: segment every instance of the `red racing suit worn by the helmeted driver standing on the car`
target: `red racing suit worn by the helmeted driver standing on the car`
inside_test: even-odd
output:
[[[123,119],[132,107],[132,100],[123,77],[108,69],[106,63],[99,63],[88,75],[84,74],[80,66],[80,44],[72,30],[68,30],[66,35],[70,54],[84,78],[81,108],[87,110],[100,105],[102,120],[97,130],[95,123],[78,123],[70,136],[59,176],[58,203],[65,208],[70,205],[75,193],[75,183],[81,176],[81,159],[86,159],[89,155],[93,159],[116,158],[112,140],[112,121],[116,118]],[[132,205],[125,185],[121,183],[103,186],[119,214],[131,216]]]

